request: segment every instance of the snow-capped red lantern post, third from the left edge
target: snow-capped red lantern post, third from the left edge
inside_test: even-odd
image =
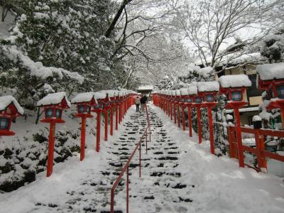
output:
[[[77,114],[76,117],[81,118],[81,150],[80,150],[80,160],[84,160],[84,148],[86,141],[86,119],[92,118],[91,109],[92,106],[96,104],[97,100],[94,98],[93,92],[84,92],[77,94],[77,96],[72,99],[72,104],[77,104]]]

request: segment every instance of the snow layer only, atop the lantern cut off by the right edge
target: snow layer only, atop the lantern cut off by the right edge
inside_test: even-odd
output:
[[[284,62],[257,65],[256,72],[263,81],[273,79],[284,79]]]

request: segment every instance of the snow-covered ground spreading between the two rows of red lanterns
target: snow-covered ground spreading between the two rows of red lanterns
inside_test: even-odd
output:
[[[131,117],[135,115],[134,107],[131,107],[124,126],[120,126],[119,132],[115,132],[108,142],[102,141],[100,153],[94,151],[94,137],[87,137],[86,158],[79,161],[79,156],[73,156],[64,163],[55,165],[53,175],[45,178],[45,173],[40,173],[37,180],[23,186],[14,192],[0,195],[0,212],[104,212],[109,209],[109,203],[98,205],[96,202],[102,197],[108,199],[105,194],[111,187],[111,178],[116,175],[105,176],[102,171],[109,167],[109,160],[116,160],[114,152],[119,151],[116,145],[129,129],[127,125],[135,124],[141,118]],[[209,141],[197,143],[197,136],[189,138],[188,131],[183,132],[170,121],[160,109],[151,105],[151,122],[153,126],[153,141],[148,143],[148,155],[143,150],[142,178],[138,178],[138,168],[131,168],[130,195],[138,197],[130,198],[130,212],[284,212],[284,182],[282,178],[265,173],[256,173],[249,168],[239,168],[236,160],[226,156],[218,158],[209,152]],[[127,125],[126,125],[127,124]],[[161,125],[160,125],[161,124]],[[137,127],[138,128],[138,127]],[[141,130],[141,126],[139,127]],[[140,130],[131,135],[138,138]],[[130,133],[130,132],[129,132]],[[163,137],[159,136],[162,134]],[[162,138],[167,138],[163,145]],[[157,141],[155,141],[157,140]],[[160,142],[158,143],[158,140]],[[136,142],[129,141],[129,151]],[[160,145],[162,144],[162,145]],[[171,145],[174,144],[174,145]],[[159,146],[158,146],[159,145]],[[157,151],[163,146],[176,147],[175,161],[167,161],[162,168],[168,173],[180,174],[176,178],[169,175],[150,176],[155,169]],[[125,147],[125,148],[126,148]],[[163,153],[161,154],[163,155]],[[135,162],[134,160],[134,163]],[[175,167],[170,167],[175,165]],[[156,186],[157,180],[160,186]],[[105,185],[106,190],[97,187],[97,183]],[[182,184],[185,187],[174,189],[165,186],[164,183]],[[159,190],[160,189],[160,190]],[[146,200],[145,194],[153,195],[153,199]],[[140,195],[141,194],[141,195]],[[173,195],[180,200],[168,200]],[[116,195],[116,208],[125,210],[125,191]],[[140,197],[139,197],[140,196]],[[187,197],[187,201],[183,200]],[[142,200],[142,202],[141,202]],[[96,207],[95,209],[93,207]]]

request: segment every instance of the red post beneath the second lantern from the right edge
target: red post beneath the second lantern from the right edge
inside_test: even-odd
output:
[[[239,167],[244,167],[244,150],[243,143],[241,141],[241,120],[238,107],[234,107],[234,116],[236,119],[236,143],[238,146]]]

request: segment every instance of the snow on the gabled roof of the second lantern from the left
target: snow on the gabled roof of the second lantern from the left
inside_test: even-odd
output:
[[[42,107],[51,104],[60,104],[63,99],[65,99],[67,106],[71,107],[71,104],[67,99],[66,92],[50,93],[47,96],[45,96],[43,99],[38,101],[38,104],[36,104],[36,106]]]

